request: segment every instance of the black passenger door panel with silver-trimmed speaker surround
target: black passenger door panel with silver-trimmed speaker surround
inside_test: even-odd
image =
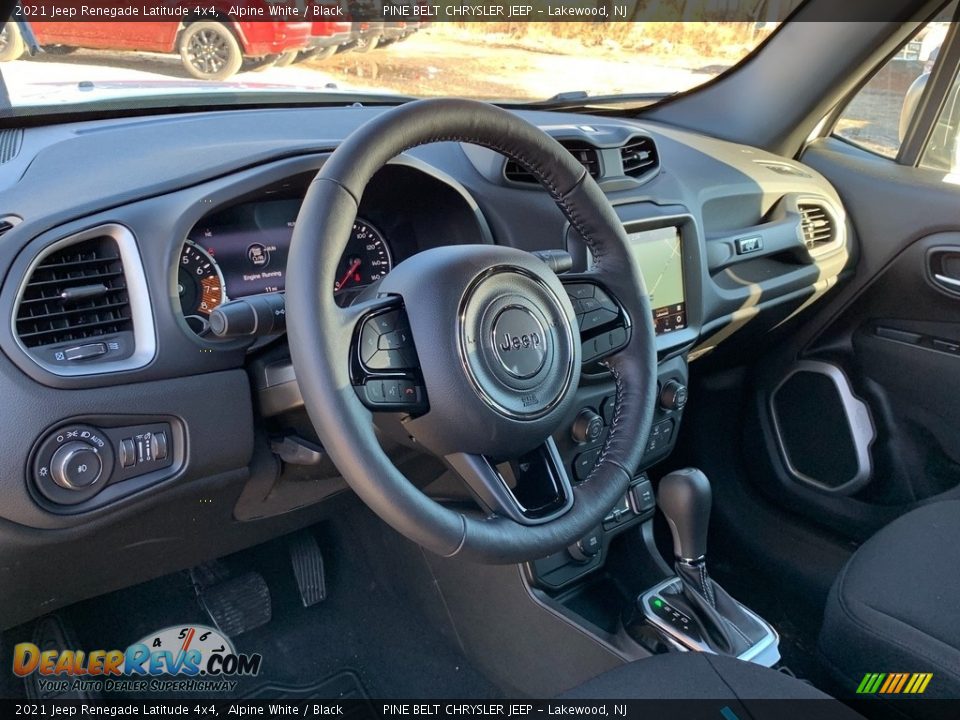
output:
[[[834,139],[803,161],[839,191],[861,255],[854,278],[758,363],[746,444],[768,498],[864,539],[960,496],[960,188]],[[839,389],[811,376],[778,399],[805,367]],[[865,477],[844,484],[864,449]]]

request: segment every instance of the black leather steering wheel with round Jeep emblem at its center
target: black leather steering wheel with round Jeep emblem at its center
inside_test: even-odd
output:
[[[496,150],[534,174],[594,257],[558,276],[518,249],[466,245],[404,260],[376,298],[334,301],[337,265],[374,173],[432,142]],[[642,457],[656,394],[653,318],[622,223],[556,140],[469,100],[421,100],[358,128],[304,198],[286,285],[290,352],[304,405],[349,486],[383,520],[442,556],[532,560],[587,535],[623,497]],[[571,483],[552,435],[575,408],[581,363],[616,384],[607,438]],[[476,510],[437,502],[381,449],[387,412],[442,458]]]

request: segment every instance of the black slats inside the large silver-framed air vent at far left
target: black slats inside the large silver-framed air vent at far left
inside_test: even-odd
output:
[[[16,328],[28,348],[132,330],[116,241],[90,238],[45,257],[24,287]]]

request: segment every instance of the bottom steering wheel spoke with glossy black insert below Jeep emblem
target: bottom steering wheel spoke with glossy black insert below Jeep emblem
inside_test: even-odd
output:
[[[553,439],[513,460],[456,453],[447,465],[485,509],[521,525],[556,520],[573,505],[573,490]]]

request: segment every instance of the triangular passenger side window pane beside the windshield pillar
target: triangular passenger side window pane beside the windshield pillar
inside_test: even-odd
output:
[[[951,2],[861,88],[837,120],[834,136],[891,160],[897,158],[956,8],[957,2]],[[939,148],[938,159],[944,154],[940,146],[947,142],[943,135],[938,141],[934,133],[928,146],[931,152],[935,145]]]

